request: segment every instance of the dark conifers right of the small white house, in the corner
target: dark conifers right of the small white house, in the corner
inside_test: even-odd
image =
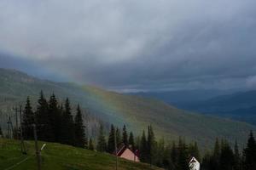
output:
[[[216,139],[214,148],[202,159],[203,170],[255,170],[256,169],[256,142],[253,132],[247,139],[247,146],[239,150],[235,142],[232,148],[227,140]]]

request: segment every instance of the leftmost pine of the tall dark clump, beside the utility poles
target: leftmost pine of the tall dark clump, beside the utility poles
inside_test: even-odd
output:
[[[34,113],[32,111],[32,106],[30,104],[30,99],[27,97],[25,110],[23,111],[22,117],[22,127],[23,127],[23,137],[24,139],[34,139],[33,127],[35,123]]]

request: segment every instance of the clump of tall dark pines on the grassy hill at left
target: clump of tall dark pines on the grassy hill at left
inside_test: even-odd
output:
[[[87,145],[80,106],[77,105],[76,114],[73,117],[68,98],[63,105],[56,99],[55,94],[47,100],[41,91],[37,109],[32,111],[31,101],[27,97],[21,126],[24,139],[34,139],[33,124],[37,125],[39,140],[78,147]]]

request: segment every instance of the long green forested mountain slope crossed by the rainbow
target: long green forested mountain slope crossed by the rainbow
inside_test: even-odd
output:
[[[256,129],[243,122],[182,111],[157,99],[72,83],[49,82],[19,71],[0,70],[0,82],[0,107],[3,112],[12,108],[14,102],[24,101],[27,95],[36,101],[42,89],[47,96],[55,92],[61,100],[69,97],[73,104],[79,103],[88,108],[105,122],[119,126],[125,123],[135,133],[141,134],[148,124],[152,124],[159,138],[177,139],[184,136],[189,140],[196,139],[201,145],[208,145],[218,136],[244,143],[248,131]],[[6,124],[4,119],[1,120],[2,124]]]

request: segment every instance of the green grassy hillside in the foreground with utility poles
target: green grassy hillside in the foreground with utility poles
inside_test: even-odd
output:
[[[39,145],[43,145],[42,142]],[[20,153],[20,143],[15,140],[0,139],[1,170],[36,170],[34,143],[26,141],[27,155]],[[46,143],[42,151],[42,170],[113,170],[115,157],[107,153],[74,148],[64,144]],[[119,170],[160,169],[148,164],[125,161],[119,158]]]

